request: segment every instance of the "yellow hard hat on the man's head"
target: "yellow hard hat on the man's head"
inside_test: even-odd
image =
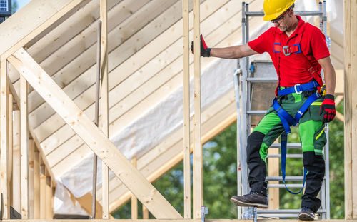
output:
[[[264,0],[264,21],[278,18],[284,11],[293,5],[295,0]]]

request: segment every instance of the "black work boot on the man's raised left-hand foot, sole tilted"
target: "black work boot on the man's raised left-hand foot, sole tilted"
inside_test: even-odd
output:
[[[268,198],[261,193],[251,191],[243,196],[232,196],[231,202],[237,206],[268,208]]]

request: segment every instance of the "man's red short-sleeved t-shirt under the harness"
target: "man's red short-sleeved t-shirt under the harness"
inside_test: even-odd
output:
[[[294,38],[298,35],[303,35],[301,37],[300,46],[303,55],[305,55],[310,64],[307,64],[306,59],[301,58],[302,54],[291,54],[290,56],[285,56],[281,52],[280,56],[280,86],[290,87],[295,84],[306,84],[313,79],[308,69],[313,68],[320,74],[321,66],[318,64],[318,59],[323,59],[330,56],[330,52],[326,46],[325,35],[316,26],[306,23],[304,29],[302,29],[305,21],[301,19],[300,16],[296,16],[299,20],[298,27],[296,30],[288,37],[285,33],[280,31],[277,27],[271,27],[265,31],[257,39],[249,41],[248,45],[254,51],[262,54],[263,52],[268,52],[275,68],[278,70],[278,56],[276,52],[273,51],[273,44],[276,41],[276,34],[281,35],[281,46],[293,46],[295,43]]]

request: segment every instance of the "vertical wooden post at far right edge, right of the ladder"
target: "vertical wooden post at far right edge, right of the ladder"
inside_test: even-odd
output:
[[[353,218],[353,109],[354,104],[352,101],[353,98],[353,87],[352,85],[352,66],[353,62],[356,64],[356,61],[353,61],[353,49],[356,49],[356,38],[353,36],[353,31],[351,30],[353,24],[356,24],[356,14],[353,13],[352,9],[353,1],[344,0],[344,73],[345,73],[345,219]],[[356,138],[354,138],[356,140]]]

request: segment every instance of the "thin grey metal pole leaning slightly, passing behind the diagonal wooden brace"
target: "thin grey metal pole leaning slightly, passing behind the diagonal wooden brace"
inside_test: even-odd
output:
[[[96,45],[96,104],[94,123],[98,126],[99,122],[99,88],[101,85],[101,21],[98,21],[97,31],[97,45]],[[91,215],[92,219],[96,218],[96,170],[98,158],[96,153],[93,153],[93,190],[92,190],[92,205]]]

